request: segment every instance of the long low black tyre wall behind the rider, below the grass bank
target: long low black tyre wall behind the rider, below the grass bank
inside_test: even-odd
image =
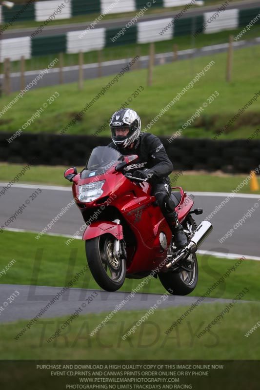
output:
[[[11,143],[10,133],[0,133],[0,161],[35,165],[82,167],[93,148],[108,145],[109,137],[53,134],[21,134]],[[160,137],[175,171],[221,170],[249,173],[260,164],[258,140],[211,140],[177,138],[171,143]]]

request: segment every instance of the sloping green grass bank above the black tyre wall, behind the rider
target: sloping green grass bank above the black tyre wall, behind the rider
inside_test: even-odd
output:
[[[159,114],[161,108],[214,60],[215,64],[205,76],[160,117],[150,130],[159,136],[171,136],[207,101],[207,98],[218,91],[220,96],[211,104],[208,103],[194,124],[181,134],[183,137],[213,137],[259,91],[256,83],[259,77],[259,59],[258,46],[235,51],[230,83],[225,81],[226,53],[158,66],[154,69],[154,83],[150,88],[146,86],[146,70],[131,71],[112,85],[105,95],[84,113],[81,120],[67,130],[67,134],[94,134],[128,98],[132,98],[131,107],[139,112],[142,128],[145,128]],[[48,106],[30,127],[27,127],[27,131],[32,133],[37,131],[57,134],[111,79],[109,76],[85,80],[81,91],[78,90],[76,83],[30,91],[0,118],[1,131],[15,133],[55,91],[58,91],[60,97]],[[132,94],[140,85],[143,85],[144,91],[134,98]],[[2,98],[2,105],[8,104],[15,96],[16,94],[13,94]],[[254,102],[229,131],[221,134],[218,139],[247,138],[253,134],[260,119],[257,107],[258,102]],[[108,135],[107,126],[100,136]]]

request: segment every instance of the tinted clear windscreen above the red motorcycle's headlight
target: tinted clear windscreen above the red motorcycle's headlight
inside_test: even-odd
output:
[[[103,175],[116,162],[122,161],[123,156],[109,146],[98,146],[93,149],[86,163],[85,169],[81,173],[81,179]]]

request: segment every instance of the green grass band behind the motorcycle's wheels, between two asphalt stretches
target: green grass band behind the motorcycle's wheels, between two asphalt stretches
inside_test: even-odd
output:
[[[12,259],[15,259],[16,263],[6,272],[6,275],[1,276],[0,282],[3,284],[65,286],[86,264],[84,243],[74,240],[67,246],[65,237],[43,235],[37,240],[35,235],[8,231],[2,233],[0,270],[4,269]],[[8,257],[4,254],[4,248],[8,248]],[[200,276],[198,285],[191,294],[194,296],[203,295],[229,268],[235,265],[237,260],[198,255],[198,261]],[[36,272],[36,269],[39,271]],[[259,273],[260,262],[244,260],[228,278],[224,279],[222,284],[211,292],[210,296],[233,299],[242,288],[247,287],[249,292],[244,299],[260,300]],[[126,279],[120,291],[132,291],[139,284],[139,280]],[[73,287],[100,290],[89,271],[84,273],[84,276]],[[158,279],[153,278],[149,279],[149,283],[140,292],[163,294],[165,289]]]

